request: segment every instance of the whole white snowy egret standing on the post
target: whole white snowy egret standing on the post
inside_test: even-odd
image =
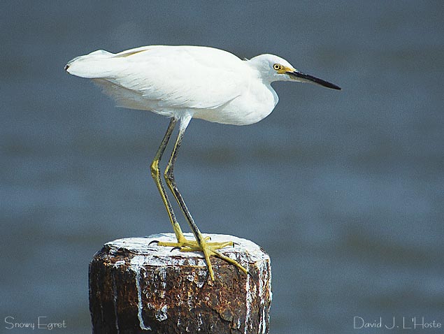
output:
[[[301,73],[288,61],[275,55],[241,60],[224,50],[187,45],[144,46],[117,54],[97,50],[69,61],[65,70],[72,75],[92,79],[117,101],[118,106],[150,110],[171,118],[150,168],[173,224],[177,242],[158,242],[158,245],[177,247],[182,252],[203,252],[213,280],[210,256],[218,256],[244,273],[247,270],[218,251],[232,246],[233,242],[210,242],[203,237],[176,186],[173,168],[189,121],[194,117],[234,125],[259,122],[278,103],[278,94],[271,87],[274,81],[310,82],[341,89],[330,82]],[[178,136],[164,171],[164,179],[196,240],[185,239],[159,171],[159,161],[178,122]]]

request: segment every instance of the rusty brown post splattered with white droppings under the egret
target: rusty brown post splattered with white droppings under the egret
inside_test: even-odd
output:
[[[92,333],[268,333],[270,258],[249,240],[209,236],[234,241],[221,252],[249,275],[211,256],[213,282],[200,252],[148,245],[173,233],[106,243],[89,264]]]

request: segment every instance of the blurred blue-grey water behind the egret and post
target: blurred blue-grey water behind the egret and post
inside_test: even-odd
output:
[[[149,176],[168,120],[63,70],[150,44],[274,53],[343,87],[277,82],[269,117],[193,120],[178,158],[201,230],[270,254],[271,333],[443,324],[443,17],[443,1],[2,1],[0,332],[43,316],[90,333],[94,252],[171,231]]]

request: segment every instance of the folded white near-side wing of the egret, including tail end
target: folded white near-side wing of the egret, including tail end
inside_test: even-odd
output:
[[[223,106],[248,89],[248,70],[222,50],[158,45],[117,54],[99,50],[73,59],[67,69],[96,79],[121,106],[153,111]]]

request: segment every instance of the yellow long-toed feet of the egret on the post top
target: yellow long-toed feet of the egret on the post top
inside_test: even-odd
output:
[[[180,252],[203,252],[205,256],[205,261],[208,266],[208,272],[210,273],[210,278],[214,281],[214,273],[213,267],[211,266],[210,256],[217,256],[218,258],[227,261],[228,263],[233,264],[237,268],[239,268],[243,273],[248,274],[248,271],[243,268],[237,261],[225,256],[224,254],[217,252],[217,249],[221,249],[223,247],[231,246],[234,247],[234,243],[232,241],[227,242],[208,242],[210,237],[203,238],[201,244],[195,240],[187,240],[185,238],[180,239],[178,242],[164,242],[159,241],[157,245],[165,246],[165,247],[175,247],[180,250]]]

